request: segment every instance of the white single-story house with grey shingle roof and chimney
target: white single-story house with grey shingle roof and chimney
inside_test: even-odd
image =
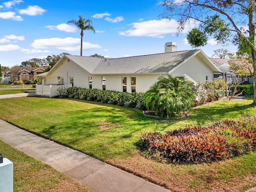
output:
[[[146,92],[161,75],[171,74],[197,83],[214,80],[214,73],[221,73],[202,50],[176,51],[175,45],[166,43],[165,53],[125,58],[64,55],[50,71],[38,76],[44,85]]]

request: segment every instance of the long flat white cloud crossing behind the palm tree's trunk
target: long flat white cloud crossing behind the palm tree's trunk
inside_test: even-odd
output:
[[[80,50],[80,38],[49,38],[49,39],[36,39],[31,44],[35,49],[56,48],[67,51],[79,51]],[[101,48],[98,44],[90,44],[89,42],[83,42],[83,50],[89,50],[93,48]]]

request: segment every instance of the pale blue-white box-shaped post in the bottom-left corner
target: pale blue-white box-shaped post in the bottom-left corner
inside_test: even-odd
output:
[[[13,192],[13,163],[7,158],[0,163],[0,192]]]

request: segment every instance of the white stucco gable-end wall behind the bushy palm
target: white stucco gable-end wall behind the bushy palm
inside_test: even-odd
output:
[[[171,73],[172,76],[184,76],[194,83],[214,80],[214,72],[198,56],[195,56]]]

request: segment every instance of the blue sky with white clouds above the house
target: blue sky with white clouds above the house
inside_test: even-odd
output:
[[[166,42],[177,50],[192,49],[186,32],[176,36],[176,20],[165,20],[158,0],[11,0],[0,1],[0,64],[20,65],[31,58],[67,52],[80,55],[80,30],[71,19],[92,20],[96,30],[85,31],[83,56],[100,54],[109,58],[164,52]],[[178,19],[178,18],[177,18]],[[201,49],[208,56],[222,48],[214,40]],[[234,46],[224,47],[234,52]]]

